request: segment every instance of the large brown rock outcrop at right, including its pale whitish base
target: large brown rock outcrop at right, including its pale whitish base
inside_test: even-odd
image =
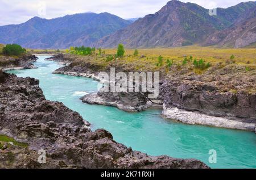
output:
[[[163,114],[188,124],[255,131],[255,73],[239,65],[214,68],[204,75],[164,79],[160,90]]]

